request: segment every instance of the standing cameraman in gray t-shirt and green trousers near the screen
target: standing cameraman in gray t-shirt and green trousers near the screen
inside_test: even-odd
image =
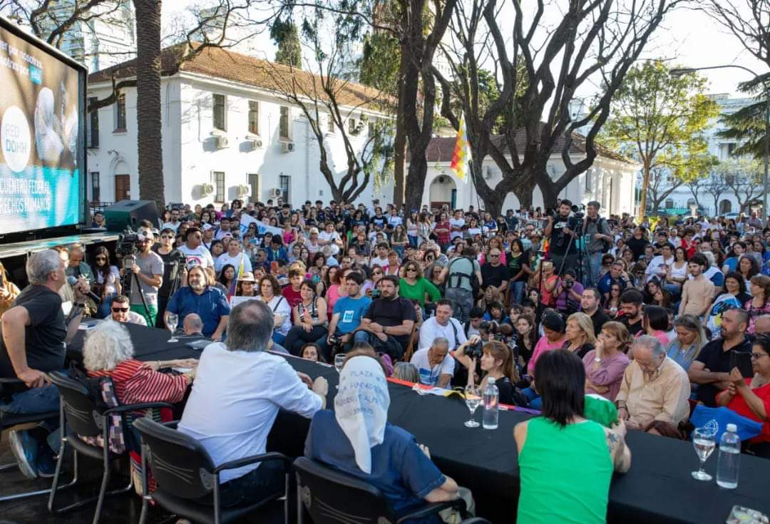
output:
[[[131,285],[131,311],[139,313],[147,321],[147,325],[155,325],[158,315],[158,289],[163,284],[163,259],[152,252],[152,232],[139,233],[139,255],[136,262],[130,268],[124,268],[123,272],[133,272],[139,279],[136,285],[130,273],[126,278],[132,279]],[[144,302],[142,302],[144,296]],[[146,308],[145,308],[146,304]]]

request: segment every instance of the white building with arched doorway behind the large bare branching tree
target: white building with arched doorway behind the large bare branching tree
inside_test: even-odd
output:
[[[523,132],[521,133],[523,140]],[[450,169],[454,153],[454,137],[434,138],[427,149],[428,172],[423,188],[423,204],[436,208],[447,204],[450,209],[464,208],[473,205],[476,209],[484,207],[473,182],[463,182],[457,179]],[[522,144],[523,145],[523,144]],[[557,142],[554,154],[547,165],[551,179],[557,179],[565,171],[561,159],[563,142]],[[559,195],[562,199],[570,199],[573,203],[586,204],[595,200],[601,203],[601,214],[604,216],[634,212],[634,176],[639,166],[624,159],[621,155],[598,146],[599,155],[594,164],[577,178],[572,180]],[[581,137],[575,136],[571,145],[573,162],[585,158],[585,149]],[[487,185],[494,188],[500,182],[502,175],[494,161],[487,156],[483,164],[484,179]],[[534,207],[543,206],[540,189],[534,189]],[[509,193],[504,201],[503,210],[518,209],[519,201],[514,193]]]

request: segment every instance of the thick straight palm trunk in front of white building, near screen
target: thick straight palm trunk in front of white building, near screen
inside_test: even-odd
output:
[[[166,205],[160,107],[161,0],[133,0],[136,8],[136,125],[139,198]]]

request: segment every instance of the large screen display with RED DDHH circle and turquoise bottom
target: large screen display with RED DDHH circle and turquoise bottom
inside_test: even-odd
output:
[[[80,74],[0,28],[0,235],[81,221]]]

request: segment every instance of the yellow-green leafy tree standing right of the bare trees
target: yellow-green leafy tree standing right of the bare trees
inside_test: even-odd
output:
[[[705,78],[695,73],[672,76],[656,60],[631,68],[616,92],[602,139],[641,163],[641,214],[654,182],[651,176],[670,175],[681,185],[705,176],[714,164],[702,133],[718,115],[718,105],[703,94],[705,87]],[[652,196],[658,200],[652,209],[658,209],[668,195]]]

